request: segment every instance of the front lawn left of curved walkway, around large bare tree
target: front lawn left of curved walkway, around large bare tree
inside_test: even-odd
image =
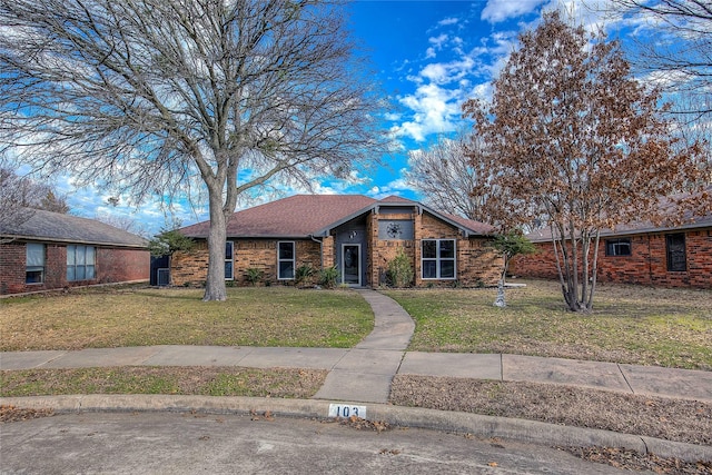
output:
[[[348,348],[374,316],[352,290],[101,288],[0,300],[0,350],[150,345]]]

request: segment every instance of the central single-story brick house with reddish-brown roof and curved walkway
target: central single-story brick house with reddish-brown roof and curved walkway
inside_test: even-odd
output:
[[[171,258],[172,285],[202,284],[209,221],[180,229],[198,241]],[[493,228],[392,196],[297,195],[235,212],[227,226],[226,279],[245,285],[247,269],[266,283],[290,284],[305,264],[336,266],[339,283],[384,284],[388,263],[403,249],[417,287],[494,285],[502,258],[487,246]]]

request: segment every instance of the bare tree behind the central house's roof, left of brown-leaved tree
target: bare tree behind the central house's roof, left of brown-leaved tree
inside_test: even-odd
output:
[[[482,140],[465,132],[455,138],[439,137],[427,149],[408,152],[405,178],[434,208],[488,221],[483,215],[490,178],[482,159],[483,147]]]

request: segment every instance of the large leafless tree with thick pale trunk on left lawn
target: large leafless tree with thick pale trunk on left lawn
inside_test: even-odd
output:
[[[380,150],[340,0],[8,0],[0,24],[0,140],[137,201],[207,189],[205,300],[240,194]]]

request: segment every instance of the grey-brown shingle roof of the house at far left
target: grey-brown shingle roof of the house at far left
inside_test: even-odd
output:
[[[19,225],[0,224],[0,237],[120,247],[146,247],[147,245],[142,237],[96,219],[41,209],[32,209],[29,212],[31,217]]]

